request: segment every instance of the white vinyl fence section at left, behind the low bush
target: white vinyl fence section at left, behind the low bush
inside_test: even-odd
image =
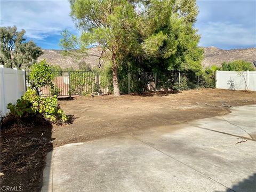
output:
[[[0,116],[6,115],[7,104],[16,103],[26,92],[25,70],[0,65]]]

